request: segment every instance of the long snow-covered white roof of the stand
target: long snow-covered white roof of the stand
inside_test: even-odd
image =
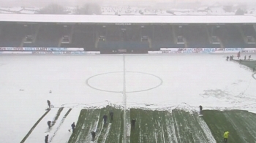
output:
[[[26,23],[256,23],[252,15],[23,15],[0,14],[1,22]]]

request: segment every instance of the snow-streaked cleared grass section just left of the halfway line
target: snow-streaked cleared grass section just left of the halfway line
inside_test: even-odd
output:
[[[109,112],[113,111],[113,121]],[[107,124],[103,123],[103,115],[108,115]],[[122,142],[123,139],[123,112],[121,109],[106,107],[103,109],[82,109],[75,128],[75,133],[69,143],[91,142],[91,131],[96,132],[94,142]]]

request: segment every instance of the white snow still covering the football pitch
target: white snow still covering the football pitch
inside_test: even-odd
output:
[[[71,134],[65,131],[78,120],[79,109],[102,107],[108,101],[123,105],[124,63],[128,107],[197,109],[201,104],[206,109],[256,112],[252,71],[225,61],[225,56],[1,56],[0,142],[20,142],[45,113],[47,100],[54,107],[73,108],[53,139],[53,143],[67,141]],[[64,109],[60,118],[67,112]],[[34,138],[44,140],[46,120],[56,115],[55,110],[39,123],[26,143]]]

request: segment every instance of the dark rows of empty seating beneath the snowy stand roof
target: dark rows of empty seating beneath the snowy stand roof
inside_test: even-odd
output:
[[[28,35],[33,36],[33,42],[23,43]],[[63,36],[68,36],[70,41],[61,43]],[[184,39],[184,44],[177,44],[178,36]],[[212,44],[211,36],[217,36],[220,44]],[[246,42],[247,36],[256,38],[253,25],[135,24],[126,26],[115,24],[0,23],[1,47],[84,47],[85,50],[255,47],[255,43]]]

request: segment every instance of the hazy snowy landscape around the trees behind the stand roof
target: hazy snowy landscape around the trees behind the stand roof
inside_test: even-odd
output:
[[[15,4],[17,5],[17,4]],[[24,4],[23,4],[24,5]],[[64,5],[63,5],[64,6]],[[225,12],[225,7],[229,6],[230,12]],[[139,2],[136,1],[134,4],[126,3],[125,1],[120,1],[120,4],[117,4],[116,1],[113,2],[103,2],[101,1],[100,10],[102,15],[141,15],[141,12],[144,15],[173,15],[167,11],[172,11],[176,15],[235,15],[237,9],[243,9],[245,12],[248,12],[249,15],[255,15],[255,4],[254,3],[227,3],[220,4],[219,2],[208,3],[208,2],[150,2],[147,1]],[[64,6],[67,9],[68,15],[76,15],[77,6],[68,5]],[[81,8],[81,7],[80,7]],[[13,13],[28,14],[28,11],[24,9],[31,10],[29,14],[36,14],[39,9],[42,7],[0,7],[0,9],[12,11]],[[196,12],[200,11],[200,12]],[[202,13],[203,12],[203,13]]]

